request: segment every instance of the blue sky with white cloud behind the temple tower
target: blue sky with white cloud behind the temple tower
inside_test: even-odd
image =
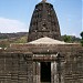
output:
[[[29,31],[32,12],[41,0],[0,0],[0,32]],[[83,0],[46,0],[56,12],[61,34],[80,37]]]

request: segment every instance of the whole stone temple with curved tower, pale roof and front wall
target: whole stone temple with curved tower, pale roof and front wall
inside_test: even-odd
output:
[[[0,83],[83,83],[83,48],[60,38],[53,6],[42,0],[32,14],[29,42],[0,50]]]

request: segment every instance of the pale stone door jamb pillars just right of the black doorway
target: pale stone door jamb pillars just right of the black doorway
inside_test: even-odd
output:
[[[51,83],[60,83],[61,79],[61,83],[64,83],[64,63],[62,62],[60,65],[60,70],[58,71],[59,64],[58,62],[51,62]],[[61,75],[59,75],[59,73]]]

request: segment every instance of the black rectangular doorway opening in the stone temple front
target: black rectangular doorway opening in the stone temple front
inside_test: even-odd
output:
[[[51,62],[41,62],[41,82],[51,83]]]

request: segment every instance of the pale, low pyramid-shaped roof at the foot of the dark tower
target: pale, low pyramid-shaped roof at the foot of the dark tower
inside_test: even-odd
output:
[[[32,42],[29,42],[31,44],[65,44],[64,41],[54,40],[48,37],[40,38],[38,40],[34,40]]]

